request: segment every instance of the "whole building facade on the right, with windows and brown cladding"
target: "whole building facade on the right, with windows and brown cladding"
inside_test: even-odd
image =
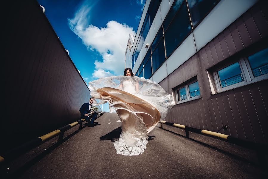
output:
[[[268,143],[267,21],[267,1],[147,0],[125,64],[173,95],[166,121]]]

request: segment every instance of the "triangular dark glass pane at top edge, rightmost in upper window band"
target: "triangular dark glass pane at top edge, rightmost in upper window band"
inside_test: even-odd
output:
[[[199,23],[219,0],[187,0],[193,27]]]

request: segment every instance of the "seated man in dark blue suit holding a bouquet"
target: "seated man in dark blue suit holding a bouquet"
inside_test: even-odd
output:
[[[90,116],[88,115],[88,113],[91,112],[91,108],[94,107],[92,106],[92,103],[93,103],[93,98],[90,98],[89,103],[84,103],[79,109],[81,113],[81,119],[85,119],[88,122],[88,125],[90,127],[94,127],[93,122],[97,118],[97,113],[94,111],[92,111],[92,115]],[[90,124],[89,124],[89,118],[91,118]]]

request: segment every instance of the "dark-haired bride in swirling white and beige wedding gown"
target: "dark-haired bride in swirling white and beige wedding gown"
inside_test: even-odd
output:
[[[139,155],[146,149],[148,133],[165,120],[173,98],[155,82],[133,75],[126,68],[124,76],[100,78],[89,82],[90,95],[100,105],[109,103],[122,122],[119,140],[114,142],[117,154]]]

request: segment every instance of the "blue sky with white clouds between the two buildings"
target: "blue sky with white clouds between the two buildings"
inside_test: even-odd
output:
[[[84,81],[123,75],[145,0],[38,0]]]

